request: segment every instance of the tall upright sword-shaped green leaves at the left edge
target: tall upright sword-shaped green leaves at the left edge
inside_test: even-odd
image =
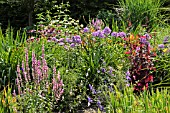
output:
[[[13,29],[8,28],[6,34],[0,29],[0,89],[11,82],[14,83],[16,65],[23,57],[23,45],[26,34],[18,31],[14,39]]]

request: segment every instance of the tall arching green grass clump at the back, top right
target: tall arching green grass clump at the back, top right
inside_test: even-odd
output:
[[[147,31],[151,31],[157,26],[156,23],[161,22],[160,8],[164,0],[118,0],[118,2],[122,8],[121,19],[128,30],[144,26]]]

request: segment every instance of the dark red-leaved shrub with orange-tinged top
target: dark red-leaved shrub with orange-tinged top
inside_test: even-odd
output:
[[[130,54],[129,60],[131,67],[127,71],[127,79],[134,84],[134,92],[143,91],[148,89],[150,82],[153,82],[154,67],[153,57],[154,54],[149,43],[151,37],[148,34],[144,36],[130,35],[125,38],[126,47],[129,49],[125,54]]]

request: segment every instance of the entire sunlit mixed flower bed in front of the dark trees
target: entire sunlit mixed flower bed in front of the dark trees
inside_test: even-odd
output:
[[[0,29],[0,112],[169,113],[170,26],[155,1],[119,0],[85,26],[62,3],[31,29]]]

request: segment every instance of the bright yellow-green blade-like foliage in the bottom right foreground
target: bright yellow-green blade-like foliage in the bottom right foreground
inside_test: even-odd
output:
[[[144,91],[139,96],[133,94],[133,88],[125,88],[123,93],[114,88],[115,92],[105,91],[107,105],[105,107],[108,113],[122,112],[165,112],[170,110],[170,94],[169,89],[161,89],[161,91],[153,89],[151,92]]]

